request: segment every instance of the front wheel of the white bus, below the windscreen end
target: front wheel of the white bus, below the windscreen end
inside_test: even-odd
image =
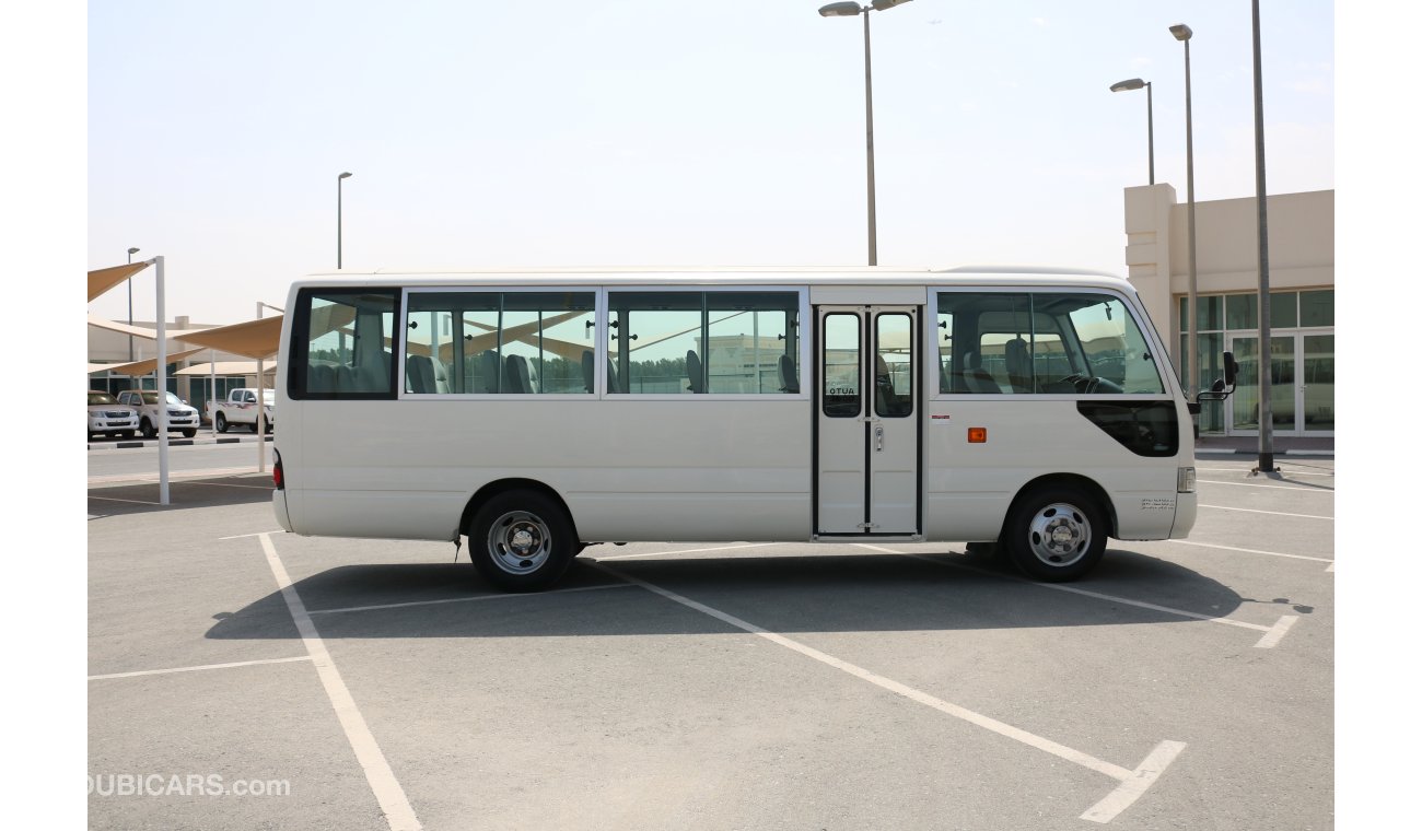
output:
[[[1106,520],[1089,494],[1038,487],[1012,506],[1003,547],[1018,571],[1042,582],[1078,580],[1106,551]]]

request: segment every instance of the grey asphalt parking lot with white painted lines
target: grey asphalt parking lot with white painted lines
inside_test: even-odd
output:
[[[88,491],[92,828],[1331,828],[1334,462],[1202,457],[1085,581],[961,544],[280,533],[262,474]]]

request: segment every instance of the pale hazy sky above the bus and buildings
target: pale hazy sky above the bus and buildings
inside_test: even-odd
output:
[[[236,322],[336,264],[866,263],[862,18],[816,0],[88,6],[88,267]],[[1271,193],[1334,188],[1334,9],[1261,3]],[[879,261],[1125,273],[1122,189],[1254,195],[1249,3],[872,13]],[[154,277],[135,278],[152,320]],[[127,294],[91,304],[122,320]]]

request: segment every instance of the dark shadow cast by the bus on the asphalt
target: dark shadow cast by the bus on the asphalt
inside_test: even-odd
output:
[[[1112,550],[1084,581],[1092,595],[1015,577],[1003,563],[919,557],[580,558],[555,591],[503,594],[468,563],[341,565],[294,584],[324,638],[566,638],[741,634],[626,575],[771,632],[968,631],[1182,624],[1246,602],[1179,564]],[[1169,598],[1163,601],[1160,598]],[[1119,598],[1119,599],[1118,599]],[[1169,608],[1130,605],[1135,601]],[[404,604],[404,605],[402,605]],[[219,612],[213,639],[290,639],[273,592]]]

